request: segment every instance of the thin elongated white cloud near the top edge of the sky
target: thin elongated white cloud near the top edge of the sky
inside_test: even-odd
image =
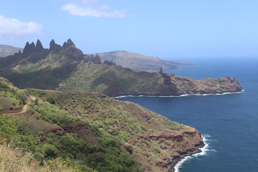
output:
[[[87,1],[86,4],[89,2]],[[65,4],[61,7],[63,10],[69,12],[70,15],[78,16],[92,16],[92,17],[125,17],[126,9],[115,10],[110,9],[110,6],[104,4],[100,8],[93,8],[88,5],[79,5],[75,3]]]

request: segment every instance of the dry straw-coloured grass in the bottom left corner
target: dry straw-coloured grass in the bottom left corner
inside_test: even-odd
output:
[[[2,172],[76,172],[78,170],[63,165],[60,159],[51,160],[39,166],[30,153],[25,155],[19,150],[11,149],[5,144],[0,145],[0,171]]]

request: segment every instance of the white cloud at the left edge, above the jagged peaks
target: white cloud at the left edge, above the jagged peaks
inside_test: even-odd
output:
[[[42,25],[37,22],[21,22],[0,15],[0,39],[17,38],[31,33],[41,33]]]

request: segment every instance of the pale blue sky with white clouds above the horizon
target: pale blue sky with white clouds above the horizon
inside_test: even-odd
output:
[[[26,0],[0,6],[0,44],[72,39],[84,54],[258,57],[257,0]]]

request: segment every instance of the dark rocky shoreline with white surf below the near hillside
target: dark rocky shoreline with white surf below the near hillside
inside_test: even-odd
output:
[[[175,166],[181,161],[183,160],[185,157],[188,156],[192,156],[196,153],[201,153],[202,150],[201,148],[203,148],[205,146],[205,143],[200,143],[198,145],[196,145],[192,150],[189,150],[187,152],[181,152],[181,155],[172,157],[172,160],[169,162],[168,166],[171,167],[169,172],[174,172],[175,171]]]

